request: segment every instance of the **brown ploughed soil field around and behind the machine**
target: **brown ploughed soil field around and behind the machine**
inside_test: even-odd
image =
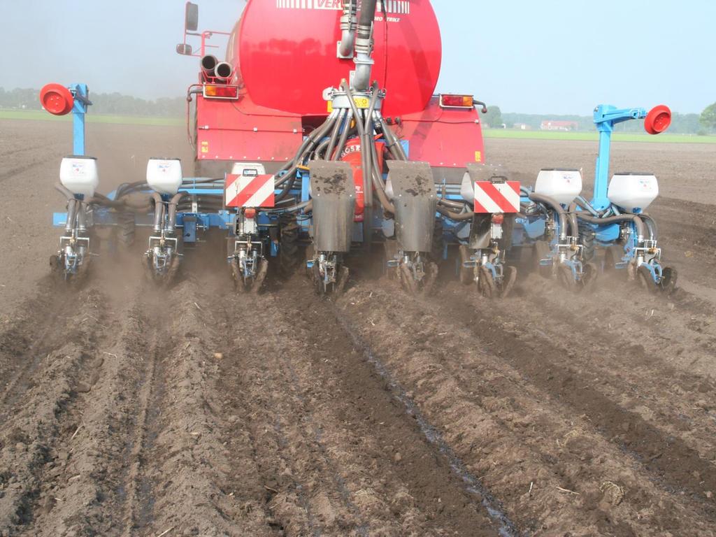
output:
[[[49,277],[69,127],[0,122],[0,536],[716,536],[716,148],[621,143],[679,289],[521,273],[481,299],[357,274],[235,294],[221,260]],[[531,183],[591,142],[488,140]],[[182,129],[91,125],[100,190]],[[141,251],[143,244],[137,245]],[[206,256],[213,256],[207,252]],[[216,256],[214,256],[216,257]],[[445,271],[450,272],[450,271]]]

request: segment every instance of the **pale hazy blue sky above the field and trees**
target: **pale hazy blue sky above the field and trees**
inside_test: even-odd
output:
[[[245,0],[195,0],[200,29],[229,31]],[[438,91],[503,112],[589,115],[595,105],[701,112],[716,101],[716,1],[433,0]],[[73,9],[72,6],[81,6]],[[87,82],[176,97],[195,60],[175,54],[183,0],[0,0],[0,87]]]

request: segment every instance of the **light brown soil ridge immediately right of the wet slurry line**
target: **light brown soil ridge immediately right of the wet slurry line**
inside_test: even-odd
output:
[[[575,407],[560,390],[559,379],[554,384],[533,381],[533,370],[553,378],[560,374],[539,349],[497,322],[491,324],[487,311],[472,308],[468,316],[455,307],[458,298],[443,295],[443,302],[453,307],[373,287],[349,291],[342,306],[363,337],[379,345],[391,374],[448,445],[473,473],[484,476],[521,526],[547,534],[627,535],[630,527],[662,534],[683,531],[681,518],[672,513],[685,511],[692,534],[711,535],[705,493],[692,511],[678,493],[659,490],[662,481],[626,455],[614,434],[605,433],[595,409]],[[529,374],[526,362],[533,367]],[[568,388],[577,392],[576,399],[584,392],[581,385]],[[599,409],[601,403],[594,405]],[[610,502],[619,487],[629,490],[628,503]],[[672,513],[657,510],[644,516],[657,504],[670,505]]]

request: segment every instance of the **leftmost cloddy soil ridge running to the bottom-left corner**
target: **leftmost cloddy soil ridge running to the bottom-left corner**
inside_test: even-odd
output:
[[[35,519],[57,501],[48,484],[59,475],[63,453],[77,430],[77,416],[87,405],[95,350],[104,334],[100,312],[103,297],[83,291],[78,308],[66,311],[44,344],[53,348],[39,361],[22,394],[22,405],[6,415],[0,436],[0,531],[10,535],[30,531]],[[97,315],[95,317],[95,315]],[[87,322],[92,316],[94,322]],[[29,357],[28,357],[29,359]],[[17,383],[19,387],[21,383]]]

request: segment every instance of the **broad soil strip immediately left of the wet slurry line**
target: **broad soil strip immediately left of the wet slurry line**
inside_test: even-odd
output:
[[[251,371],[250,357],[263,365],[255,366],[246,383],[256,386],[248,401],[261,402],[254,431],[266,437],[258,428],[271,422],[267,412],[277,412],[289,440],[276,439],[273,455],[266,443],[256,442],[261,460],[282,459],[291,475],[272,487],[277,518],[288,519],[291,511],[282,511],[286,503],[301,508],[291,494],[300,486],[312,517],[313,528],[307,529],[321,535],[463,534],[468,527],[473,535],[494,535],[496,524],[486,516],[483,497],[470,492],[440,448],[426,440],[415,416],[392,395],[330,304],[317,299],[302,279],[292,284],[294,289],[283,289],[280,296],[261,297],[260,308],[241,308],[254,312],[249,326],[255,328],[237,339],[244,363],[233,366]],[[274,329],[256,338],[263,326]],[[231,377],[228,370],[224,376]],[[294,535],[298,529],[286,531]]]

